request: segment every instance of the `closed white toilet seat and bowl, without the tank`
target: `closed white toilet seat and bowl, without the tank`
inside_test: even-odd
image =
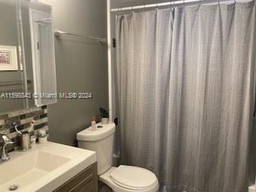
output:
[[[112,166],[99,179],[114,192],[157,192],[159,187],[150,170],[136,166]]]

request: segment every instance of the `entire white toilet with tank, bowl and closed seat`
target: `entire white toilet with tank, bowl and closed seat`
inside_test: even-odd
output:
[[[99,180],[114,192],[157,192],[158,178],[150,170],[137,166],[112,166],[115,125],[98,123],[97,126],[102,128],[82,130],[77,139],[80,148],[96,151]]]

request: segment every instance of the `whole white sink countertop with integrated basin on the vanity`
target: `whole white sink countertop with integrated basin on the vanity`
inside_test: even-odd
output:
[[[37,145],[28,152],[12,152],[0,162],[0,191],[52,191],[96,162],[96,154],[54,142]]]

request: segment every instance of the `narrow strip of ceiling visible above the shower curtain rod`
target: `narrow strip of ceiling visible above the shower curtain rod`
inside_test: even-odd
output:
[[[168,0],[111,0],[112,8],[126,7],[126,6],[141,6],[144,4],[151,4],[156,2],[169,2]]]

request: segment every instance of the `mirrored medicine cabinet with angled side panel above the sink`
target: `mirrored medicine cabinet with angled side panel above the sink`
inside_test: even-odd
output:
[[[57,102],[52,8],[0,0],[0,114]]]

